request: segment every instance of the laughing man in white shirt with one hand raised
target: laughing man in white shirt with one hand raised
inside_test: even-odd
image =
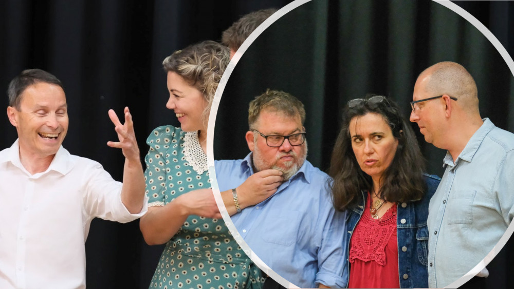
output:
[[[130,222],[146,211],[132,116],[113,110],[125,156],[123,184],[62,147],[68,129],[61,82],[24,70],[9,84],[7,116],[18,139],[0,151],[0,288],[85,288],[84,243],[91,220]]]

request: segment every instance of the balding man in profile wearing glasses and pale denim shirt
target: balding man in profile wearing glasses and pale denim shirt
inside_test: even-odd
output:
[[[411,122],[427,142],[448,150],[429,205],[429,286],[454,287],[465,274],[486,277],[478,264],[514,216],[514,134],[480,117],[476,84],[460,64],[421,72],[412,99]]]

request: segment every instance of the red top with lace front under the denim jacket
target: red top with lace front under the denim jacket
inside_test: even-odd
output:
[[[371,196],[350,240],[348,288],[399,288],[396,205],[378,220],[371,218]]]

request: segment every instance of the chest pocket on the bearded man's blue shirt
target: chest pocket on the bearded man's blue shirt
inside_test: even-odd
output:
[[[296,242],[301,216],[298,211],[274,211],[266,215],[261,226],[265,242],[290,246]]]

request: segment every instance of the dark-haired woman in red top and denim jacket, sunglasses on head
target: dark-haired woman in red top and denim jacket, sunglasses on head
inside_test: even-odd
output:
[[[334,205],[347,210],[348,287],[427,287],[428,204],[414,132],[380,95],[348,102],[332,154]]]

